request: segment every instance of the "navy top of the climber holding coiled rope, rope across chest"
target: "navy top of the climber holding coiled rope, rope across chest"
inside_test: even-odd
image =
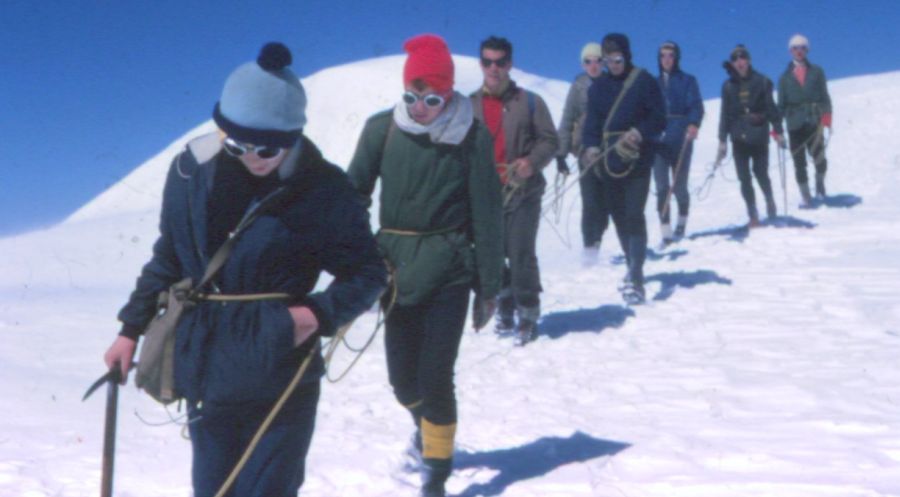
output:
[[[649,174],[653,165],[653,148],[666,127],[665,102],[653,76],[643,69],[629,67],[620,76],[604,74],[588,90],[587,117],[584,123],[583,146],[603,150],[603,126],[618,98],[630,71],[642,71],[613,116],[607,131],[628,131],[637,128],[641,133],[641,157],[636,174]],[[610,152],[615,153],[615,152]]]

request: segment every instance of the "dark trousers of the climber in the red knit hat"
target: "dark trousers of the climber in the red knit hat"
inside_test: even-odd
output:
[[[418,424],[456,423],[454,366],[469,304],[469,289],[438,290],[427,301],[394,306],[385,321],[388,379],[397,400]]]

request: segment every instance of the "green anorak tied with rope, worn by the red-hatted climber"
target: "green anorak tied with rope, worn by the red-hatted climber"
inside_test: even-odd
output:
[[[394,271],[396,303],[417,304],[453,285],[495,297],[503,202],[490,134],[473,120],[459,145],[434,143],[393,119],[392,111],[369,118],[348,174],[367,199],[381,178],[376,239]]]

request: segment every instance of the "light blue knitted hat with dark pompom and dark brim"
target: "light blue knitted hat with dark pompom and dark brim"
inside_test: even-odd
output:
[[[292,147],[306,125],[306,92],[291,62],[291,51],[273,42],[235,69],[213,110],[219,128],[239,142]]]

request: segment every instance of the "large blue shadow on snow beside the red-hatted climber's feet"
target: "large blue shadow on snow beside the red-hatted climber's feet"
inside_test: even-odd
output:
[[[568,438],[543,437],[509,449],[458,452],[453,466],[459,469],[490,468],[499,471],[490,481],[469,485],[458,497],[500,495],[510,485],[543,476],[566,464],[612,456],[630,444],[600,440],[580,431]]]

